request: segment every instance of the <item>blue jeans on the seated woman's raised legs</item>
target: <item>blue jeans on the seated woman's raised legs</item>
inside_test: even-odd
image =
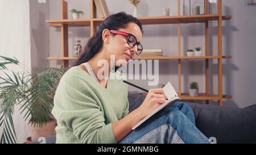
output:
[[[210,141],[196,128],[191,107],[183,102],[175,102],[151,116],[119,143],[209,144]]]

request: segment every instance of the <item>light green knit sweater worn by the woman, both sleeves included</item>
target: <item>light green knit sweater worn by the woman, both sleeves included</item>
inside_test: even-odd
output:
[[[69,69],[54,97],[56,143],[117,143],[112,123],[129,113],[127,92],[121,79],[108,79],[105,89],[79,67]]]

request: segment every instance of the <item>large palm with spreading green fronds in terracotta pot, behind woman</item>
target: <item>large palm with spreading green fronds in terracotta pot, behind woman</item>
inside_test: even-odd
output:
[[[18,60],[0,56],[0,61],[3,61],[0,62],[0,70],[5,74],[5,77],[0,77],[0,127],[3,128],[0,143],[17,143],[13,112],[18,104],[24,120],[30,122],[32,141],[52,135],[56,124],[51,115],[52,90],[64,70],[48,68],[40,73],[20,74],[6,66],[19,65]]]

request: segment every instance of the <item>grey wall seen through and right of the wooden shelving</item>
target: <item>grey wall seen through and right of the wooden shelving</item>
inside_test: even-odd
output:
[[[89,18],[89,1],[85,0],[67,0],[68,10],[80,9],[85,12],[82,18]],[[106,0],[110,14],[119,11],[126,11],[133,14],[133,6],[127,0]],[[183,1],[181,1],[183,2]],[[202,5],[203,0],[191,1],[192,6],[195,4]],[[188,0],[185,2],[188,4]],[[232,15],[232,19],[224,21],[223,35],[223,55],[233,56],[232,60],[224,60],[223,91],[224,94],[230,94],[233,99],[224,100],[224,104],[230,106],[246,107],[256,103],[254,88],[256,87],[256,62],[255,53],[255,27],[256,27],[256,6],[246,5],[246,1],[225,0],[222,1],[223,14]],[[182,5],[182,3],[181,3]],[[163,14],[164,7],[170,7],[171,14],[177,15],[177,1],[141,1],[138,6],[140,16],[159,16]],[[185,7],[188,9],[188,6]],[[212,12],[216,11],[216,6],[212,6]],[[183,12],[183,8],[181,8]],[[188,11],[185,11],[188,14]],[[71,18],[71,14],[69,14]],[[60,19],[60,2],[49,2],[49,19]],[[210,31],[210,55],[217,55],[217,22],[211,22]],[[162,48],[164,55],[177,55],[177,26],[173,24],[143,26],[143,47]],[[58,56],[61,53],[60,28],[50,28],[50,55]],[[182,24],[181,25],[181,53],[186,55],[188,48],[201,46],[205,50],[204,24]],[[72,55],[72,43],[75,39],[81,39],[85,44],[89,39],[89,27],[69,28],[69,55]],[[59,66],[60,61],[51,61],[50,66]],[[217,94],[217,60],[210,60],[210,93]],[[189,90],[191,81],[199,82],[201,93],[205,92],[204,61],[182,61],[182,84],[181,91]],[[171,81],[177,90],[177,61],[160,61],[160,83]],[[131,81],[150,89],[147,81]],[[137,90],[129,86],[129,90]],[[210,102],[217,104],[217,102]]]

